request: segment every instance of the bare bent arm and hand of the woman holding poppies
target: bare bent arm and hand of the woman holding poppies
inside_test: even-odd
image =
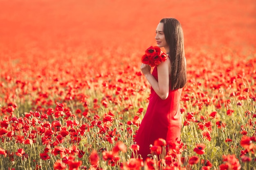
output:
[[[169,94],[169,70],[170,70],[170,59],[168,58],[165,62],[161,62],[157,66],[158,82],[155,77],[150,73],[150,66],[147,64],[141,65],[141,71],[145,75],[149,84],[154,89],[155,93],[161,98],[166,99]]]

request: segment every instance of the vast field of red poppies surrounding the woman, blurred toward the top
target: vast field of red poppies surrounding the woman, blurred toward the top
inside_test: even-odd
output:
[[[0,170],[256,170],[253,0],[0,0],[0,11]],[[142,161],[141,56],[167,17],[184,31],[181,141],[156,140]]]

